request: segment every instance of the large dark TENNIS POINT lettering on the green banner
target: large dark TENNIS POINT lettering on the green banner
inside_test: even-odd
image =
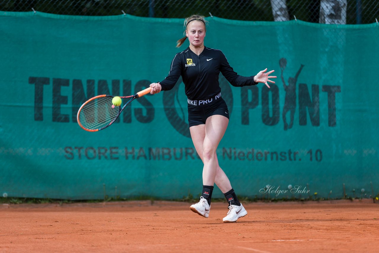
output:
[[[178,81],[182,82],[181,79]],[[149,80],[139,80],[132,85],[131,80],[80,80],[80,79],[62,79],[62,78],[49,78],[49,77],[33,77],[30,76],[28,83],[34,86],[34,121],[43,121],[44,114],[44,100],[52,100],[52,121],[60,123],[77,122],[76,116],[81,104],[89,98],[94,97],[95,94],[122,94],[130,95],[136,91],[140,91],[148,87],[151,83]],[[229,105],[229,111],[232,111],[233,94],[230,90],[229,83],[224,77],[219,80],[220,86],[226,92],[223,93],[223,98]],[[132,92],[133,90],[135,92]],[[179,84],[177,85],[179,86]],[[321,86],[321,87],[320,87]],[[280,122],[281,115],[287,114],[287,111],[298,111],[298,124],[306,126],[320,126],[320,114],[326,113],[327,126],[335,127],[337,124],[337,110],[336,110],[336,94],[341,92],[341,86],[336,85],[307,85],[299,83],[298,93],[286,93],[286,100],[284,105],[280,105],[279,101],[279,86],[271,84],[271,89],[262,86],[258,88],[257,85],[244,86],[240,89],[241,96],[241,115],[240,121],[242,125],[250,124],[251,110],[260,108],[262,111],[262,123],[266,126],[274,126]],[[47,91],[46,91],[47,90]],[[322,94],[321,92],[324,94]],[[261,93],[259,95],[259,93]],[[32,93],[33,94],[33,93]],[[46,97],[49,94],[51,97]],[[133,108],[133,105],[125,108],[115,123],[132,123],[132,118],[140,123],[150,123],[155,118],[155,107],[149,101],[149,96],[144,96],[138,99],[138,103],[142,108]],[[169,93],[165,98],[163,97],[163,107],[166,111],[166,116],[169,122],[174,126],[179,124],[187,125],[186,122],[178,121],[170,110],[172,108],[173,100],[175,99],[175,92]],[[297,102],[296,102],[297,101]],[[190,101],[188,101],[190,102]],[[209,101],[207,101],[209,102]],[[324,108],[322,104],[327,104],[325,108],[327,111],[321,110]],[[259,106],[259,104],[261,104]],[[70,110],[67,111],[66,107],[70,105]],[[161,105],[159,105],[161,106]],[[298,108],[296,108],[298,107]],[[133,110],[132,110],[133,108]],[[280,112],[280,108],[285,110]],[[132,113],[133,112],[133,113]],[[169,116],[168,116],[169,115]],[[291,118],[290,125],[293,124]],[[175,128],[176,129],[176,128]],[[182,128],[180,128],[182,129]],[[185,128],[183,128],[185,129]],[[184,130],[183,130],[184,131]],[[185,130],[188,132],[187,130]],[[184,132],[180,132],[185,135]],[[187,133],[188,134],[188,133]],[[188,136],[189,137],[189,136]]]

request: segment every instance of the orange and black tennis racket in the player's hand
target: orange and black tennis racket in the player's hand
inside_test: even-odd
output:
[[[139,91],[135,95],[120,96],[121,99],[129,99],[121,108],[112,103],[115,96],[99,95],[88,99],[78,110],[77,121],[81,128],[89,132],[103,130],[110,126],[120,116],[122,110],[134,99],[150,93],[151,88]]]

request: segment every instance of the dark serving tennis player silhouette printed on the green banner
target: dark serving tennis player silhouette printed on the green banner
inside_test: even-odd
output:
[[[294,118],[295,110],[296,110],[296,82],[298,82],[298,76],[302,68],[304,67],[304,65],[301,64],[295,77],[288,78],[288,85],[286,85],[284,77],[283,77],[283,71],[285,67],[287,66],[286,58],[281,58],[279,60],[279,66],[280,66],[280,69],[282,70],[282,74],[280,75],[280,77],[282,78],[283,88],[285,91],[282,118],[283,118],[283,123],[284,123],[284,130],[287,130],[287,129],[292,128],[293,126],[293,118]],[[290,124],[287,123],[287,118],[286,118],[288,111],[290,111]]]

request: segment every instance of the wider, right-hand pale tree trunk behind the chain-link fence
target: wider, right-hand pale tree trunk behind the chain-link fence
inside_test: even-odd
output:
[[[347,0],[321,0],[320,23],[346,24]]]

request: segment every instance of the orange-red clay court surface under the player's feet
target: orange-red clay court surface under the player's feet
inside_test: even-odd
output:
[[[379,204],[372,200],[244,204],[222,223],[189,203],[130,201],[3,204],[0,252],[378,252]]]

